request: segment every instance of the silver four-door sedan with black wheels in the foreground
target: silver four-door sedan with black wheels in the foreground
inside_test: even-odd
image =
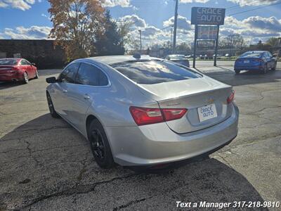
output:
[[[89,140],[103,168],[185,160],[237,136],[233,87],[171,61],[83,58],[46,82],[51,115]]]

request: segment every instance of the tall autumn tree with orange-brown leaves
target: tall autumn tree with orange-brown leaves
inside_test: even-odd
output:
[[[103,0],[48,0],[53,29],[49,37],[63,46],[67,61],[89,56],[93,41],[103,31]]]

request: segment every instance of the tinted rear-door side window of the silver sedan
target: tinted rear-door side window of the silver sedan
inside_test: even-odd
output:
[[[106,86],[108,80],[106,75],[99,68],[88,63],[81,63],[76,77],[77,84],[91,86]]]

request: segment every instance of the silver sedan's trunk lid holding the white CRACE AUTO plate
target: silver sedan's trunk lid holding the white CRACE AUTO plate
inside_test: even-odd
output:
[[[227,103],[232,87],[209,77],[188,79],[161,84],[140,84],[143,91],[150,92],[160,108],[186,108],[188,112],[178,120],[166,122],[178,134],[195,132],[223,122],[232,113]],[[204,107],[207,106],[207,107]],[[211,106],[216,115],[200,117],[201,109]]]

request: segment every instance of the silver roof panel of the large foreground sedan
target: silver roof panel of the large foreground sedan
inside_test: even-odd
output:
[[[141,58],[134,58],[131,55],[128,56],[96,56],[96,57],[90,57],[90,58],[85,58],[87,60],[93,60],[97,61],[99,63],[105,63],[107,65],[112,65],[115,63],[124,63],[124,62],[132,62],[132,61],[137,61],[137,60],[159,60],[159,58],[155,57],[150,57],[148,55],[142,55]]]

